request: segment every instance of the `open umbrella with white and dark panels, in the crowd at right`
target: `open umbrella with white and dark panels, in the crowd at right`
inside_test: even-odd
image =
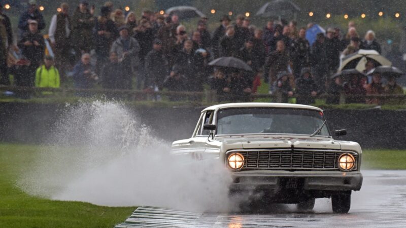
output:
[[[343,69],[352,69],[352,68],[355,68],[358,71],[364,71],[365,64],[368,60],[373,61],[378,66],[392,65],[391,61],[380,55],[377,51],[360,49],[357,52],[344,57],[339,67],[339,71],[342,71]]]

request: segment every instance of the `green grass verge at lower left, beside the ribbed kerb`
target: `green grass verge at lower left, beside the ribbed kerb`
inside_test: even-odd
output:
[[[101,207],[30,196],[16,185],[39,146],[0,144],[0,227],[113,227],[136,207]]]

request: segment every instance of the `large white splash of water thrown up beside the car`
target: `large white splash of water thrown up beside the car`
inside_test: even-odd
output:
[[[219,160],[171,156],[170,143],[117,102],[67,107],[50,139],[53,146],[44,146],[18,183],[29,194],[106,206],[228,209],[231,176]]]

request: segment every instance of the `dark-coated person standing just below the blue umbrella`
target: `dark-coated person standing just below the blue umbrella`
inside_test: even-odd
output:
[[[328,57],[325,37],[323,33],[317,34],[316,42],[312,45],[313,78],[321,93],[326,89],[328,74]]]

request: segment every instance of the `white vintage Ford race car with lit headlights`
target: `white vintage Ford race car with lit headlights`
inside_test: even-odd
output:
[[[334,137],[320,108],[284,103],[229,103],[201,111],[193,135],[175,141],[171,153],[217,158],[232,172],[231,193],[262,193],[266,202],[312,210],[315,198],[331,198],[347,213],[351,192],[362,185],[361,147]],[[252,195],[252,194],[251,194]]]

